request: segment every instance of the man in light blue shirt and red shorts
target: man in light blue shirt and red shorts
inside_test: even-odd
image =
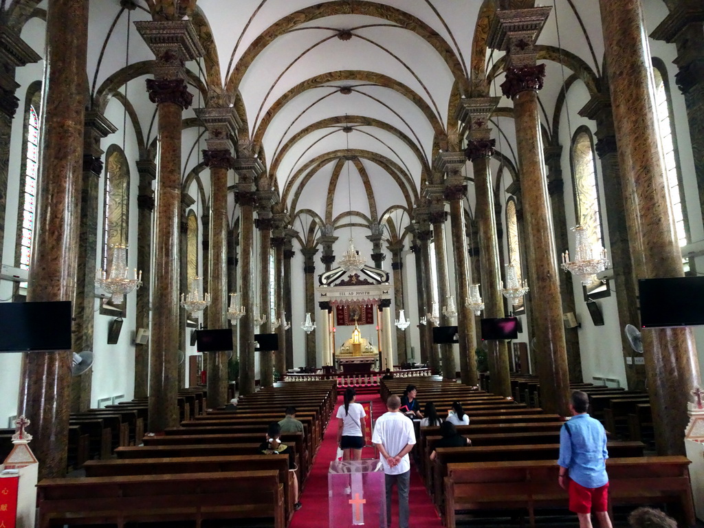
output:
[[[560,429],[559,482],[570,493],[570,511],[577,513],[579,528],[591,528],[593,508],[601,528],[612,528],[608,509],[609,477],[606,474],[606,432],[586,411],[589,396],[573,391],[572,418]]]

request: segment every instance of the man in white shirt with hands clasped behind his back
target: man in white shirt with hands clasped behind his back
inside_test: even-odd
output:
[[[377,419],[372,444],[379,450],[386,480],[386,526],[391,528],[391,488],[398,486],[398,528],[408,528],[408,490],[410,489],[410,458],[415,444],[413,421],[399,412],[401,398],[389,396],[389,411]]]

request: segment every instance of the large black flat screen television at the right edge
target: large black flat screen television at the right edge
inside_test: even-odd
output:
[[[639,279],[641,327],[704,325],[704,277]]]

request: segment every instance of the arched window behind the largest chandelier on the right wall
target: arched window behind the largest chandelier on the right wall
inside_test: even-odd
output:
[[[601,231],[601,210],[599,208],[599,191],[596,181],[596,158],[591,132],[587,127],[579,127],[572,137],[572,178],[574,182],[574,201],[577,209],[577,224],[584,227],[594,255],[603,248]],[[585,286],[586,296],[608,292],[608,287],[601,280],[592,277]]]

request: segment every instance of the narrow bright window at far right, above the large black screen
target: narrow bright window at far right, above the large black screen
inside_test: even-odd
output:
[[[656,120],[658,127],[660,127],[662,153],[665,156],[665,173],[667,184],[670,187],[670,206],[672,207],[672,216],[677,229],[677,240],[680,246],[685,246],[689,244],[689,226],[686,224],[686,208],[684,196],[681,193],[677,137],[674,134],[670,89],[667,86],[665,64],[656,58],[653,59],[653,77],[655,77]]]

